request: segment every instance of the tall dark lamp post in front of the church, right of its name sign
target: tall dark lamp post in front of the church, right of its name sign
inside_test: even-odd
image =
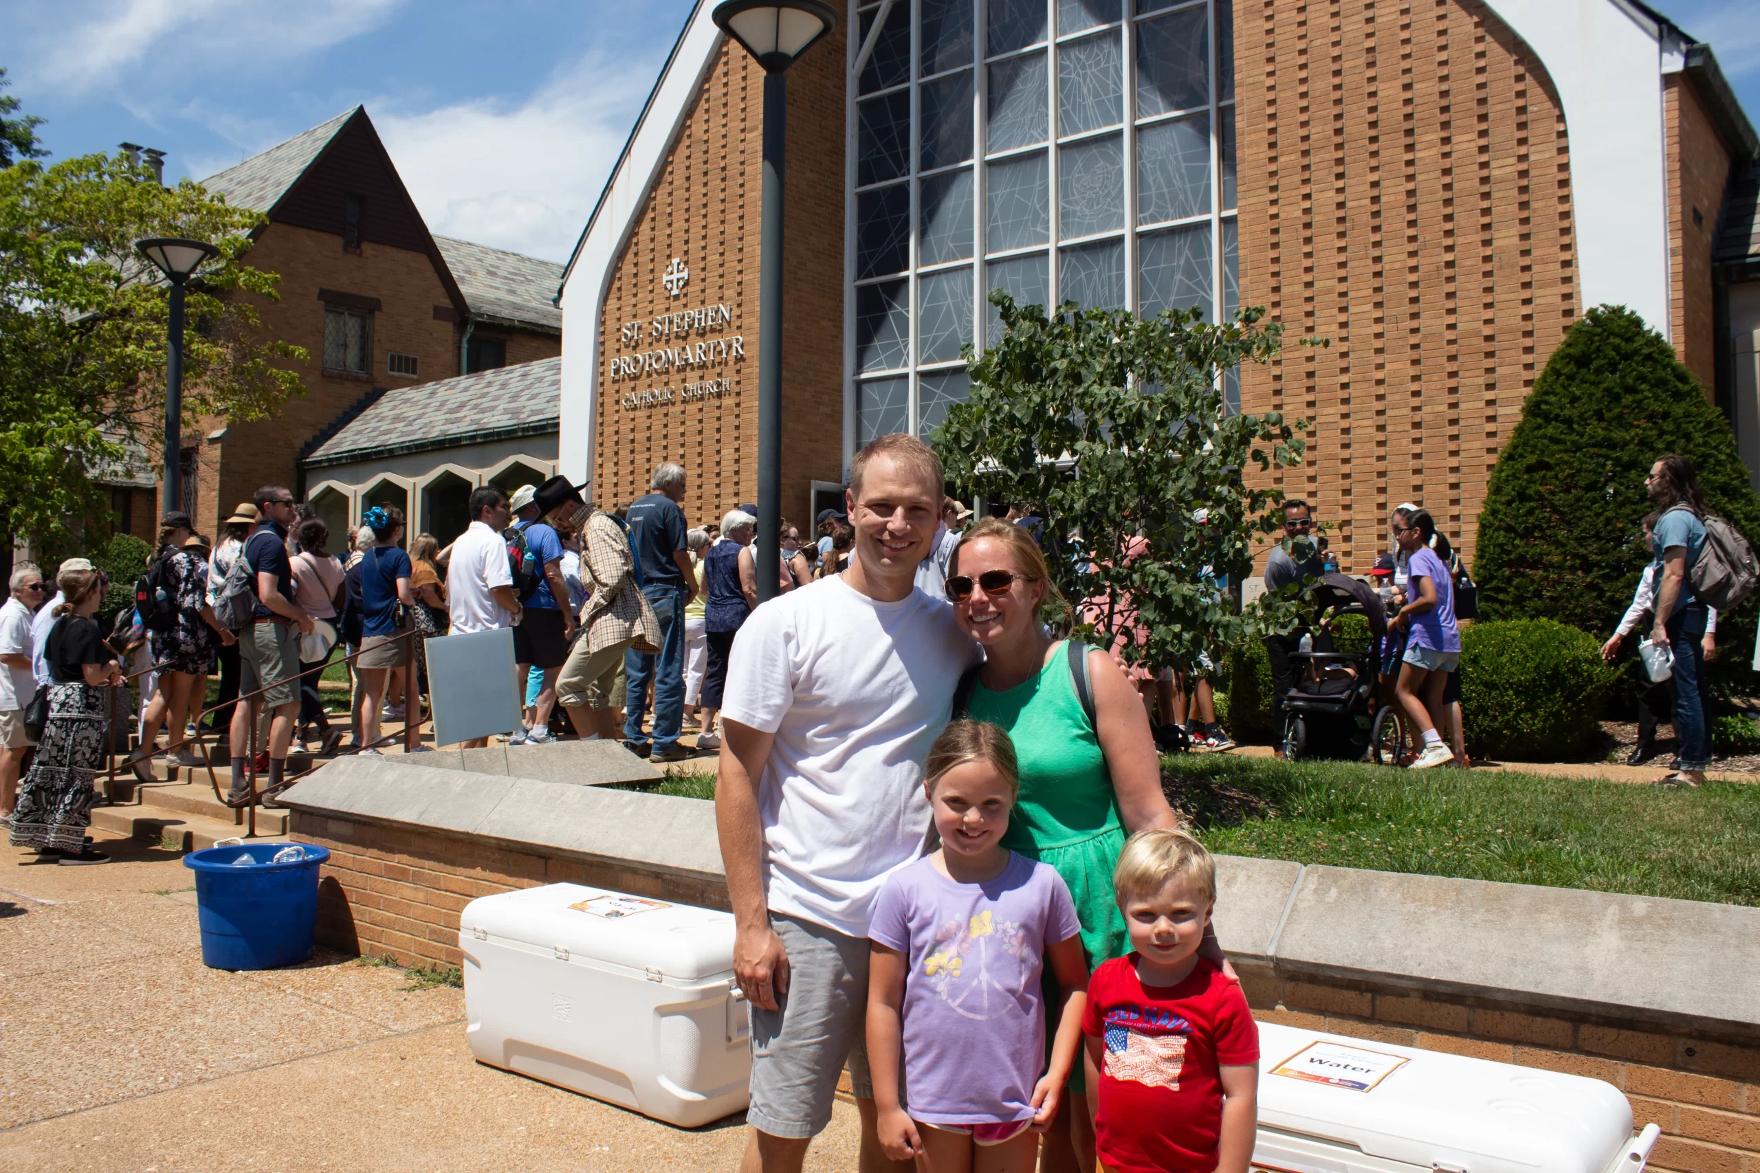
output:
[[[787,70],[838,26],[824,0],[727,0],[711,14],[764,67],[764,215],[759,262],[759,601],[776,594],[781,561],[781,176]]]

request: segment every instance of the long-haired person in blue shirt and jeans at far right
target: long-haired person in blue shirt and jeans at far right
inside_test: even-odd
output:
[[[1711,681],[1705,677],[1705,600],[1695,570],[1705,550],[1705,505],[1698,473],[1684,455],[1665,455],[1644,478],[1661,510],[1654,529],[1656,623],[1651,642],[1674,652],[1674,769],[1658,786],[1698,786],[1711,765]]]

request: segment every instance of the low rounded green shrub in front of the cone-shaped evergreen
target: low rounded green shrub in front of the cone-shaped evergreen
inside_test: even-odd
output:
[[[1466,744],[1500,758],[1549,761],[1591,749],[1619,679],[1588,631],[1551,619],[1461,630]]]

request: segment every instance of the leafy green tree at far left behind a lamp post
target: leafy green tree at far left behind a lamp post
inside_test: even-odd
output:
[[[55,543],[100,517],[90,475],[134,441],[164,441],[169,302],[134,250],[151,236],[213,243],[188,288],[183,420],[250,420],[299,394],[306,352],[259,336],[245,294],[280,278],[245,264],[253,211],[185,179],[160,186],[125,155],[0,171],[0,526]]]

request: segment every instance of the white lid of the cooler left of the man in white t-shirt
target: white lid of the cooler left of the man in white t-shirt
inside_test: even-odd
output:
[[[482,897],[465,906],[459,925],[466,937],[480,930],[546,951],[561,948],[579,960],[658,971],[685,981],[727,974],[734,967],[732,913],[584,885]]]

